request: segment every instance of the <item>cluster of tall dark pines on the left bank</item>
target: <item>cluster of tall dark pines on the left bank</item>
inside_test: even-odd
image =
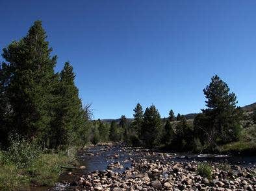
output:
[[[44,148],[87,142],[90,108],[83,107],[70,62],[55,73],[57,56],[35,21],[19,41],[3,49],[0,67],[0,144],[19,135]]]

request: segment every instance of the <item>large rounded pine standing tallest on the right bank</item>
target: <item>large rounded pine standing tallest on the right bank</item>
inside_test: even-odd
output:
[[[240,119],[242,111],[236,106],[237,97],[235,93],[229,93],[227,84],[217,75],[211,78],[211,83],[203,89],[207,109],[202,109],[204,118],[201,130],[205,132],[205,139],[209,142],[211,149],[217,142],[230,142],[237,140],[240,134]],[[205,126],[207,124],[207,126]],[[208,141],[206,140],[206,141]]]

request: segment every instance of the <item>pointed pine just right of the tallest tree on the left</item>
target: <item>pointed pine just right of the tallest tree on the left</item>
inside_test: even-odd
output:
[[[55,146],[74,142],[77,137],[75,133],[86,128],[86,114],[74,80],[73,67],[66,62],[60,73],[58,86],[57,117],[53,127]]]

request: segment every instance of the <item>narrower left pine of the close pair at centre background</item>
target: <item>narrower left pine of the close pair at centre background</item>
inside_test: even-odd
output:
[[[140,103],[136,105],[136,107],[133,109],[134,114],[134,122],[133,122],[133,128],[137,136],[140,136],[141,128],[142,128],[142,122],[143,122],[143,109]]]

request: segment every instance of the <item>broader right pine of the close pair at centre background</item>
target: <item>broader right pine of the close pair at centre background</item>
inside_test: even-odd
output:
[[[160,113],[154,105],[147,107],[143,117],[142,141],[144,145],[152,148],[160,142],[161,133]]]

